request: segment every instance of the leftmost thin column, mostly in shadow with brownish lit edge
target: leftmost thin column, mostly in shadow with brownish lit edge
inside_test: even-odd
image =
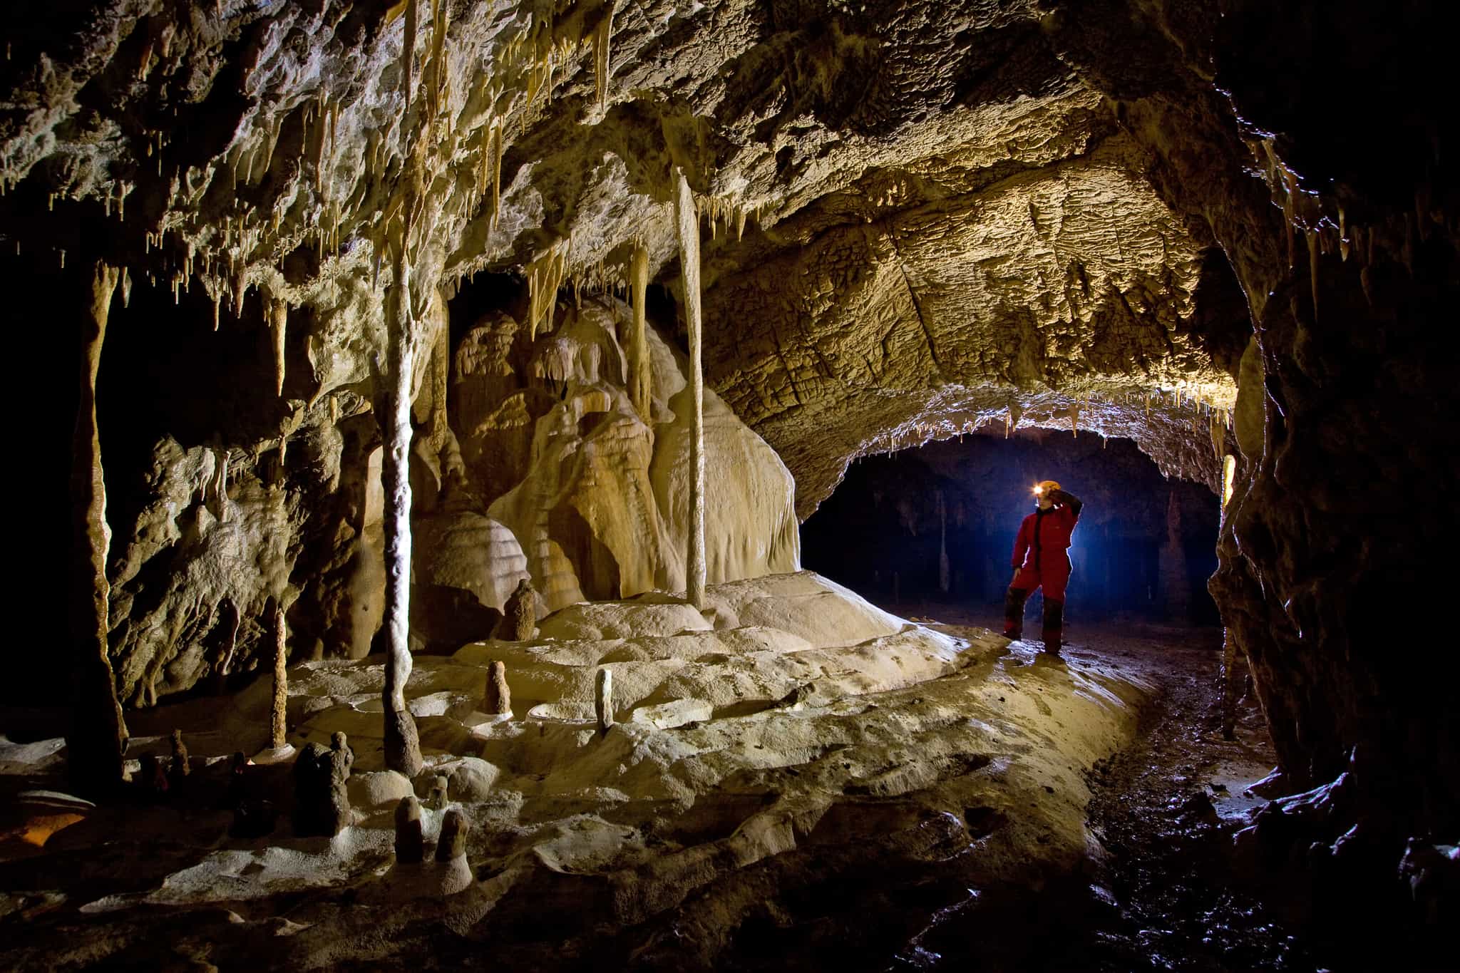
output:
[[[107,337],[111,298],[121,271],[98,261],[91,302],[82,318],[80,397],[72,438],[72,505],[76,513],[72,632],[74,642],[74,699],[66,735],[67,769],[85,788],[108,788],[123,780],[121,756],[127,724],[117,700],[117,680],[107,651],[108,602],[107,484],[101,468],[101,435],[96,427],[96,371]]]

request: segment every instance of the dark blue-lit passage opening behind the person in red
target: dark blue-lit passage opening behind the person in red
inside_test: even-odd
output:
[[[1219,500],[1202,484],[1164,477],[1129,439],[1032,429],[866,457],[803,524],[803,562],[894,608],[1002,605],[1040,480],[1085,502],[1069,551],[1067,626],[1221,624],[1206,589]]]

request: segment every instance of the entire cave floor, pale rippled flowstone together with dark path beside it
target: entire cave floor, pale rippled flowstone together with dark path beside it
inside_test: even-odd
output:
[[[603,602],[539,642],[418,658],[438,748],[415,782],[372,769],[377,659],[292,668],[293,741],[347,728],[358,748],[333,840],[286,817],[226,833],[216,772],[263,722],[263,681],[139,715],[134,732],[197,721],[201,776],[171,805],[76,808],[0,861],[15,969],[1304,969],[1226,891],[1221,849],[1272,754],[1250,706],[1237,741],[1215,734],[1216,633],[1080,626],[1050,661],[993,619],[899,605],[907,624],[809,573],[715,597],[695,632],[682,602]],[[524,696],[511,724],[473,709],[486,656]],[[597,665],[639,700],[604,737],[584,709]],[[660,726],[691,696],[708,718]],[[57,743],[0,757],[54,772]],[[257,786],[286,804],[280,772]],[[476,821],[476,881],[444,897],[439,868],[390,855],[394,802],[435,773]]]

